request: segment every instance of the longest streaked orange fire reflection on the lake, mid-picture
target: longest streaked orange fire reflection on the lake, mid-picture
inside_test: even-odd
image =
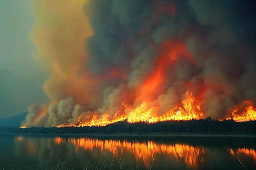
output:
[[[203,162],[203,155],[205,153],[204,147],[194,147],[187,144],[157,144],[153,141],[148,142],[130,142],[113,139],[90,139],[78,138],[70,139],[72,144],[76,146],[76,152],[79,148],[84,150],[94,150],[96,148],[108,150],[113,154],[113,157],[119,158],[124,152],[131,153],[135,156],[136,161],[143,161],[146,168],[150,168],[157,155],[168,155],[175,158],[176,161],[185,162],[190,168],[198,166]],[[58,144],[58,141],[56,141]]]

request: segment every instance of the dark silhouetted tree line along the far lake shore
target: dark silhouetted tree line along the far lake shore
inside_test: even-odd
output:
[[[84,126],[64,128],[17,128],[0,127],[0,133],[41,134],[113,134],[113,133],[196,133],[196,134],[256,134],[256,121],[219,121],[211,118],[191,121],[162,121],[153,124],[139,122],[130,124],[120,121],[108,126]]]

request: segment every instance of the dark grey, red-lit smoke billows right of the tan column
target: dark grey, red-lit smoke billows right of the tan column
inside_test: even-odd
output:
[[[117,109],[127,114],[144,99],[161,115],[188,90],[204,117],[230,117],[234,104],[256,102],[255,7],[251,0],[89,0],[83,5],[92,31],[84,40],[89,57],[81,58],[76,79],[89,74],[83,88],[91,91],[79,99],[74,88],[65,91],[43,122],[67,124],[82,113],[113,116]],[[68,86],[58,81],[61,89]]]

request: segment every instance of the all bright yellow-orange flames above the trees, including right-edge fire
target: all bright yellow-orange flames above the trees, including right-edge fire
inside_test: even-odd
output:
[[[204,113],[201,110],[200,105],[196,103],[196,98],[191,91],[187,91],[182,100],[180,106],[175,106],[168,110],[164,115],[158,114],[159,106],[155,106],[150,100],[144,100],[140,106],[131,110],[128,114],[120,115],[120,110],[117,109],[113,118],[110,117],[108,111],[102,116],[92,115],[87,117],[87,121],[80,121],[81,116],[76,121],[76,124],[63,124],[57,127],[68,126],[107,126],[118,121],[127,120],[128,123],[147,122],[149,124],[159,121],[179,121],[179,120],[193,120],[204,119]],[[124,108],[126,107],[123,103]],[[244,111],[243,111],[244,110]],[[243,106],[235,106],[232,111],[232,117],[227,119],[233,119],[235,121],[251,121],[256,120],[256,108],[252,101],[247,100]],[[219,119],[221,121],[221,119]]]

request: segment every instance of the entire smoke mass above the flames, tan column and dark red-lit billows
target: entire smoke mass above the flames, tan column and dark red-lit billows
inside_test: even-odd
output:
[[[31,1],[35,53],[49,104],[24,126],[126,115],[147,101],[162,115],[193,93],[204,117],[256,102],[254,1]],[[83,10],[83,11],[82,11]],[[198,107],[199,109],[199,107]]]

